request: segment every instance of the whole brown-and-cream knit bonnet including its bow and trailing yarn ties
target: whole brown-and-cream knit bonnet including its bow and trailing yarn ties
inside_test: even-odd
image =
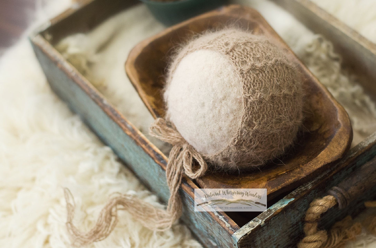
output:
[[[182,211],[182,174],[194,179],[209,166],[247,169],[283,154],[302,122],[302,96],[294,66],[265,37],[227,29],[190,41],[168,68],[165,119],[150,127],[152,135],[173,145],[166,167],[167,209],[120,194],[83,233],[73,225],[74,203],[65,190],[73,244],[106,238],[117,223],[118,205],[149,229],[169,229]]]

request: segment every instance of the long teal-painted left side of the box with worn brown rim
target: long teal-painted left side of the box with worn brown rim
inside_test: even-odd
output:
[[[149,146],[149,142],[96,91],[88,94],[83,90],[77,84],[77,80],[85,81],[85,79],[65,62],[41,36],[33,37],[32,43],[53,91],[82,117],[104,143],[111,146],[147,187],[166,202],[169,190],[165,179],[165,170],[161,164],[156,162],[159,155],[151,156],[143,148],[142,142],[144,142],[144,146]],[[114,115],[117,115],[115,118],[123,120],[121,123],[123,127],[108,115],[103,106],[98,105],[96,100],[99,98],[107,110],[110,109]],[[138,142],[135,141],[134,136],[138,136]],[[159,158],[159,161],[161,160]],[[185,190],[180,188],[184,205],[182,220],[206,247],[234,247],[231,235],[238,229],[238,226],[221,212],[194,212],[193,186],[195,185],[191,181],[190,183],[185,181],[182,185]]]

